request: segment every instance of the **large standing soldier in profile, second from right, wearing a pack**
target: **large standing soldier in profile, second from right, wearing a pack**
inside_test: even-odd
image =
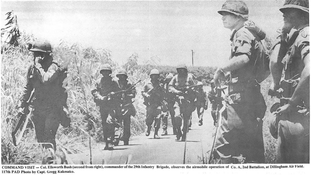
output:
[[[264,163],[262,118],[266,111],[260,85],[254,73],[256,60],[262,60],[264,49],[262,36],[248,30],[244,24],[248,18],[248,7],[243,1],[226,1],[221,10],[225,28],[232,31],[231,55],[214,74],[216,86],[228,81],[229,99],[222,113],[222,122],[214,147],[214,163]]]

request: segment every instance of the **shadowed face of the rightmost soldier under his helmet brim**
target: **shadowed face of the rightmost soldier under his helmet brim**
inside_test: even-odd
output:
[[[291,29],[293,27],[298,27],[301,21],[301,13],[295,8],[285,8],[283,11],[284,17],[284,28]]]

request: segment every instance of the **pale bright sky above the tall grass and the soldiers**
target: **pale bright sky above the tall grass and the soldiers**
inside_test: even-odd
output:
[[[20,31],[84,47],[107,48],[122,64],[133,53],[142,64],[158,57],[161,65],[219,66],[230,55],[230,30],[217,13],[225,1],[2,1],[14,10]],[[275,36],[283,25],[284,1],[245,1],[249,19]]]

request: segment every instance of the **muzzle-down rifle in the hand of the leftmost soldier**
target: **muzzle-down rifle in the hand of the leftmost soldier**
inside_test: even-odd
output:
[[[24,131],[26,129],[28,118],[30,117],[30,113],[32,111],[32,108],[30,108],[30,110],[29,110],[28,107],[29,107],[29,104],[30,104],[31,100],[34,98],[34,96],[35,96],[35,93],[34,93],[34,91],[32,91],[32,93],[30,95],[30,98],[26,102],[26,105],[25,105],[25,107],[23,109],[23,112],[17,114],[17,118],[20,118],[20,119],[19,119],[16,127],[14,128],[14,130],[11,133],[14,146],[17,146],[17,144],[19,143],[19,140],[21,140],[21,137],[23,136],[23,133],[24,133]],[[18,143],[16,144],[15,134],[17,133],[18,129],[21,127],[21,124],[23,122],[25,122],[25,123],[24,123],[24,126],[23,126],[22,130],[21,130],[20,135],[17,137]]]

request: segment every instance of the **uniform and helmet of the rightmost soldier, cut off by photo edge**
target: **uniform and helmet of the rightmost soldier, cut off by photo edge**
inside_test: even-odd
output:
[[[301,7],[300,4],[296,4],[297,2],[303,1],[285,1],[284,7],[280,10],[294,6],[294,8],[298,7],[309,12],[309,8]],[[280,38],[281,36],[278,37],[278,39]],[[290,103],[288,99],[293,98],[292,95],[304,69],[304,59],[309,59],[306,57],[310,52],[309,23],[298,30],[291,29],[285,45],[287,52],[282,59],[284,77],[280,82],[280,86],[284,90],[280,99],[281,105]],[[279,55],[282,55],[281,48]],[[297,74],[299,76],[296,76]],[[277,139],[277,163],[309,163],[310,161],[310,94],[309,86],[306,88],[308,90],[301,95],[299,103],[295,104],[301,107],[300,110],[272,114],[269,128],[272,136]]]

